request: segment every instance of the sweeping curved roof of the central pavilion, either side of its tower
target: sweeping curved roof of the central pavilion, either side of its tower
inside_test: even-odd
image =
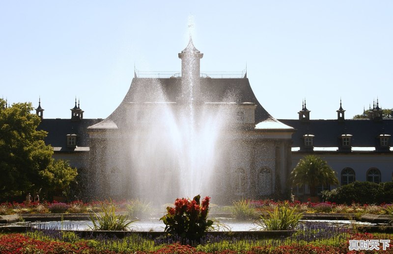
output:
[[[92,128],[116,124],[123,118],[125,104],[128,102],[180,102],[182,94],[181,78],[138,78],[134,77],[130,89],[120,105],[102,124]],[[158,91],[163,91],[162,93]],[[277,121],[258,102],[248,78],[200,78],[201,102],[251,102],[256,104],[255,123]],[[113,125],[114,126],[114,125]]]

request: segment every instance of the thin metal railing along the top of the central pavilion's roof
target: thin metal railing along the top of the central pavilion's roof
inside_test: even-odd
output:
[[[181,77],[181,72],[176,71],[135,71],[137,77],[149,77],[149,78],[175,78]],[[244,78],[246,70],[243,71],[212,71],[212,72],[201,72],[200,77],[206,78]]]

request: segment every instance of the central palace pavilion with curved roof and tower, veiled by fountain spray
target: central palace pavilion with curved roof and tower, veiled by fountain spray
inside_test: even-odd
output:
[[[88,127],[87,198],[163,204],[201,194],[225,203],[281,193],[292,128],[263,109],[247,75],[201,75],[191,36],[178,57],[180,75],[135,74],[117,109]]]

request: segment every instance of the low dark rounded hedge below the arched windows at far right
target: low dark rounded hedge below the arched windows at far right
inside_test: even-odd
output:
[[[393,196],[393,183],[382,182],[380,184],[369,181],[354,181],[339,186],[331,191],[322,192],[322,200],[334,203],[391,203]]]

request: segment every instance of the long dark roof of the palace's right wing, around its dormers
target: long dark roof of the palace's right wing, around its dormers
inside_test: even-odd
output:
[[[340,147],[340,137],[343,134],[352,135],[352,147],[376,147],[378,150],[380,134],[393,136],[393,119],[374,121],[368,119],[338,120],[309,120],[279,119],[285,125],[296,129],[292,135],[292,147],[304,147],[303,135],[314,135],[314,147]],[[390,138],[389,146],[393,146]]]

